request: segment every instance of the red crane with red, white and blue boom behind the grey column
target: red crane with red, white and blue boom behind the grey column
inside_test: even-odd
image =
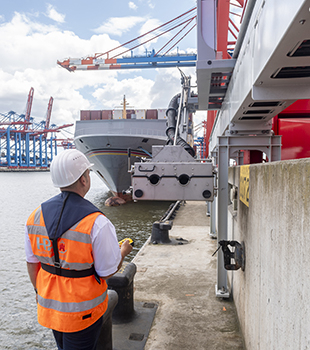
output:
[[[223,59],[230,59],[232,56],[246,2],[247,0],[218,1],[216,28],[217,52]],[[201,14],[197,14],[197,7],[193,7],[180,16],[104,53],[95,53],[93,56],[86,56],[84,58],[68,58],[63,61],[57,61],[57,63],[69,72],[79,70],[195,67],[197,64],[196,53],[177,55],[168,53],[196,27],[197,15]],[[177,33],[158,51],[153,49],[152,51],[146,51],[145,55],[133,55],[135,48],[176,29],[178,29]],[[150,36],[151,38],[149,38]],[[161,54],[164,49],[166,51]],[[129,57],[122,56],[129,52]],[[226,80],[227,77],[224,77],[224,80],[217,77],[214,85],[222,89],[223,86],[227,86]],[[217,107],[218,103],[215,106]],[[215,116],[216,111],[208,111],[208,124],[204,124],[205,128],[208,127],[208,130],[204,132],[203,148],[205,154],[208,153],[207,137],[210,135]]]

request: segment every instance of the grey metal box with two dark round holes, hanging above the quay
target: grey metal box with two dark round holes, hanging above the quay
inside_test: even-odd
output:
[[[196,161],[182,146],[155,148],[152,160],[134,164],[133,199],[213,200],[212,163]]]

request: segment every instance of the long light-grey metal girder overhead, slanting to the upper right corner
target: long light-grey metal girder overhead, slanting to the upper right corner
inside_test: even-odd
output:
[[[257,1],[230,80],[225,100],[211,135],[210,151],[217,136],[234,130],[258,130],[257,120],[268,122],[296,99],[309,98],[310,77],[274,79],[281,67],[309,66],[308,57],[288,56],[310,32],[309,1]],[[246,115],[253,102],[279,102],[268,113]],[[269,129],[271,128],[270,124]]]

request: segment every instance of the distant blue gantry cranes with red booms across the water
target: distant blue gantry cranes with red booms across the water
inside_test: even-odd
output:
[[[73,124],[50,125],[53,97],[48,103],[46,119],[38,123],[31,117],[33,95],[31,88],[25,114],[0,113],[0,168],[47,169],[57,154],[58,145],[72,147],[70,139],[57,139],[56,133]]]

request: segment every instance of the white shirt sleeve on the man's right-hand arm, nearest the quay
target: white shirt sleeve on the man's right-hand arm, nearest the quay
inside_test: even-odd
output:
[[[106,277],[115,273],[122,257],[115,227],[108,218],[103,215],[97,217],[91,231],[91,239],[98,275]]]

